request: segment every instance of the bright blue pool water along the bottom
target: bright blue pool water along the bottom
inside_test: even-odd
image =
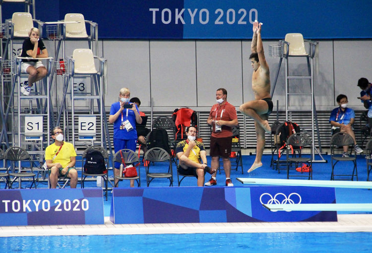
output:
[[[361,253],[372,233],[240,233],[34,236],[0,238],[0,253]]]

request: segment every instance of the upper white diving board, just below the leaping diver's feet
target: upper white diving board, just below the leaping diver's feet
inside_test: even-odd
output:
[[[372,189],[371,182],[358,181],[328,181],[328,180],[299,180],[299,179],[270,179],[270,178],[237,178],[243,184],[283,185],[283,186],[312,186],[334,188]]]

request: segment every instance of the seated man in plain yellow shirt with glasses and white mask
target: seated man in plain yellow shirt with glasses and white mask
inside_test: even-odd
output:
[[[51,188],[57,187],[58,177],[64,176],[70,179],[70,187],[76,188],[77,171],[73,167],[76,162],[75,148],[71,143],[63,142],[63,131],[57,126],[52,131],[55,142],[45,150],[45,161],[49,168]]]

